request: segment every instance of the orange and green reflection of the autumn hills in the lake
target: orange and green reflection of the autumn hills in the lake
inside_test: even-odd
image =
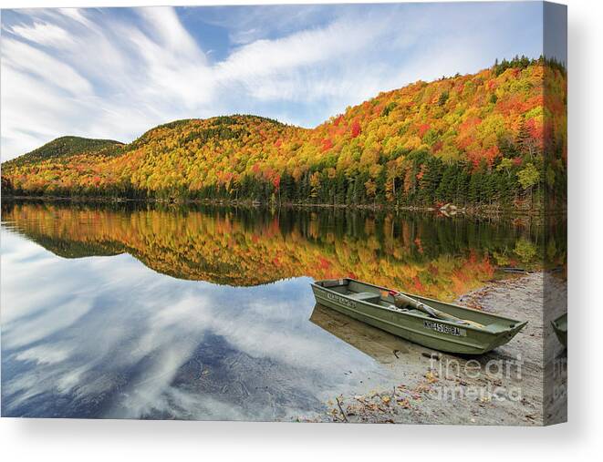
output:
[[[542,227],[343,210],[245,210],[5,204],[3,221],[66,258],[129,253],[179,279],[231,286],[354,276],[452,300],[497,267],[534,268]]]

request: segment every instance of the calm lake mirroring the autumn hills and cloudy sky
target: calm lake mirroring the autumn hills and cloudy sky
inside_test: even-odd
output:
[[[5,202],[2,415],[311,416],[392,377],[309,282],[453,300],[560,245],[528,219]]]

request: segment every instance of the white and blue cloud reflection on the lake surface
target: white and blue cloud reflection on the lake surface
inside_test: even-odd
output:
[[[60,258],[3,226],[2,414],[287,419],[384,380],[308,322],[309,281],[182,281],[127,254]]]

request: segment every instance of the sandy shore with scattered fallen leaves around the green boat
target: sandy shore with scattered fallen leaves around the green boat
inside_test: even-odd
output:
[[[395,381],[361,395],[334,396],[324,415],[300,420],[542,425],[543,290],[543,273],[536,272],[490,282],[456,301],[528,321],[510,343],[478,357],[435,352],[330,313],[329,330],[391,368]]]

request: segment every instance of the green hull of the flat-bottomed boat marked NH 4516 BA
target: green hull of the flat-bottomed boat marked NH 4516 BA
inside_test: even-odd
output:
[[[377,286],[373,287],[378,288]],[[378,289],[386,290],[385,288]],[[344,294],[334,292],[317,284],[312,284],[312,290],[314,291],[317,303],[323,306],[332,308],[339,313],[347,314],[354,319],[368,323],[410,342],[446,353],[487,353],[497,346],[509,342],[525,326],[525,323],[513,322],[516,323],[513,328],[509,328],[504,332],[492,333],[434,318],[401,313],[375,303],[353,300]],[[423,301],[428,300],[424,298],[420,299]],[[442,305],[443,303],[438,304]],[[450,306],[453,306],[457,310],[463,309],[455,305]],[[512,321],[505,318],[501,319]]]

